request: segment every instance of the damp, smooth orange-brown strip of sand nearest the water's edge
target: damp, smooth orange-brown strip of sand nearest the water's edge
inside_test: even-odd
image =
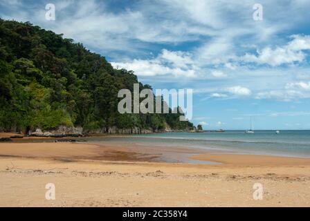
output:
[[[206,151],[198,148],[159,149],[154,146],[125,145],[123,142],[1,142],[0,157],[28,157],[37,159],[103,160],[128,162],[166,162],[162,155],[188,157],[194,164],[217,162],[224,165],[278,166],[310,165],[310,158],[252,155]],[[178,158],[178,157],[176,157]],[[195,162],[195,160],[197,162]],[[180,161],[181,162],[181,161]],[[188,163],[185,163],[188,164]]]

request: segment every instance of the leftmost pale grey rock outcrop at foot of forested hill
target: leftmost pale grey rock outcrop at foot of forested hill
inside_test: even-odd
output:
[[[83,135],[83,128],[78,126],[58,126],[55,130],[42,131],[37,128],[35,132],[29,131],[30,136],[34,137],[78,137]]]

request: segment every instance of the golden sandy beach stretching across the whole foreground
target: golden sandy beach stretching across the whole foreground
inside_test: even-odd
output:
[[[0,206],[310,206],[310,159],[192,153],[219,164],[176,164],[158,155],[109,142],[0,143]],[[45,198],[48,183],[55,200]]]

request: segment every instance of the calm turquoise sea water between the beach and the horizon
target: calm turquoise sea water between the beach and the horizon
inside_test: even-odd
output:
[[[280,134],[276,134],[275,131],[255,131],[253,134],[244,133],[244,131],[157,133],[105,137],[104,140],[152,145],[158,148],[185,146],[225,153],[310,157],[310,131],[280,131]]]

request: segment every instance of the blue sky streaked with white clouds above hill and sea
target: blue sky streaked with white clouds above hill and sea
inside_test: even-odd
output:
[[[54,3],[55,21],[45,19]],[[253,19],[253,5],[263,20]],[[310,0],[3,1],[153,88],[192,88],[205,129],[310,129]]]

